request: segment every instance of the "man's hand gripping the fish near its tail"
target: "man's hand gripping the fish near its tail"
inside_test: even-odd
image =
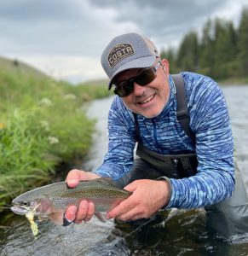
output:
[[[140,179],[130,183],[124,189],[133,194],[112,211],[107,212],[107,218],[118,218],[124,221],[150,218],[169,202],[169,185],[164,180]]]

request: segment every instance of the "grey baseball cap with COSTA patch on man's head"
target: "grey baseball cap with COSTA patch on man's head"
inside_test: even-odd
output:
[[[137,33],[126,33],[113,38],[101,55],[101,66],[110,78],[108,90],[114,77],[131,68],[152,67],[158,49],[153,42]]]

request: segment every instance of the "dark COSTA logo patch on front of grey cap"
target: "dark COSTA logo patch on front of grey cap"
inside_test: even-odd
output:
[[[134,54],[135,51],[131,44],[116,44],[109,52],[107,61],[110,67],[114,67],[118,61]]]

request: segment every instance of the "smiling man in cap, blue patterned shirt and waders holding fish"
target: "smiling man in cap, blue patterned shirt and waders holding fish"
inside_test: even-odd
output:
[[[196,73],[181,74],[189,116],[188,127],[182,127],[177,115],[181,100],[176,98],[169,63],[149,39],[136,33],[113,38],[101,64],[110,78],[109,90],[114,87],[117,95],[108,118],[108,152],[95,172],[69,172],[68,186],[112,177],[132,191],[107,212],[107,218],[137,220],[151,218],[159,209],[205,207],[211,230],[223,236],[248,231],[248,224],[244,227],[240,221],[239,213],[243,211],[242,218],[247,220],[248,210],[239,173],[239,188],[230,197],[234,145],[227,105],[216,82]],[[136,142],[140,158],[134,157]],[[92,202],[82,201],[78,209],[68,207],[65,217],[81,223],[94,212]]]

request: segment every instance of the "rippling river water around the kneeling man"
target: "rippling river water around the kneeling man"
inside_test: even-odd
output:
[[[248,179],[248,86],[222,87],[232,119],[235,157]],[[97,100],[89,114],[97,121],[94,144],[82,168],[94,170],[107,151],[107,112],[112,98]],[[1,216],[0,216],[1,217]],[[23,216],[0,220],[0,255],[248,255],[247,237],[232,243],[216,239],[205,228],[204,210],[176,210],[164,213],[161,224],[147,224],[136,230],[112,220],[61,227],[51,222],[39,224],[32,236]]]

